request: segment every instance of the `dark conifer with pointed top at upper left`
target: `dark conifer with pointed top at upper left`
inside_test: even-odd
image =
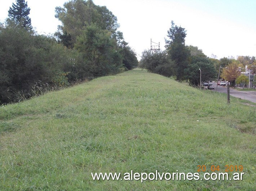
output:
[[[32,30],[31,19],[28,17],[30,14],[30,8],[27,6],[27,1],[25,0],[16,0],[16,4],[12,4],[8,11],[8,17],[10,20],[21,25],[27,31]]]

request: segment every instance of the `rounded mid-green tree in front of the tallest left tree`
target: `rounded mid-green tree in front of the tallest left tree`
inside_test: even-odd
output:
[[[77,37],[75,49],[83,54],[84,61],[94,77],[115,73],[122,67],[122,55],[111,37],[111,32],[96,24],[84,27]]]

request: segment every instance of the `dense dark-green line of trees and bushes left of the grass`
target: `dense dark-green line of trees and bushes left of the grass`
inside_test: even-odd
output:
[[[0,104],[31,97],[39,83],[63,87],[138,65],[106,6],[72,0],[56,7],[62,25],[51,36],[37,34],[29,14],[27,2],[16,0],[0,23]]]

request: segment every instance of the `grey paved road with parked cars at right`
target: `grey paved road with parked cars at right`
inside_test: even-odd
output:
[[[214,84],[215,89],[212,89],[212,91],[216,91],[217,83],[213,82],[213,84]],[[218,85],[217,92],[227,93],[227,87]],[[256,92],[255,91],[253,91],[253,92],[240,92],[240,91],[233,90],[233,89],[230,88],[230,95],[234,96],[234,97],[237,97],[237,98],[246,99],[248,101],[256,103]]]

